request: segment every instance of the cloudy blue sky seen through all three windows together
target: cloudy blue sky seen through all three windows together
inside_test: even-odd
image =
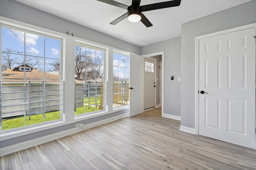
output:
[[[2,27],[2,56],[6,54],[7,49],[11,49],[10,58],[12,59],[12,68],[21,65],[24,62],[24,54],[28,56],[27,63],[34,68],[50,72],[53,71],[54,62],[60,61],[60,40],[53,37],[44,37],[36,33],[28,33],[16,29]],[[82,47],[86,53],[94,56],[92,63],[96,57],[104,58],[104,51],[90,47]],[[45,67],[44,67],[45,61]],[[103,59],[104,61],[104,59]],[[2,57],[2,63],[8,63]],[[113,74],[118,80],[129,80],[129,57],[118,53],[113,54]],[[103,68],[101,68],[103,69]],[[103,70],[101,70],[103,72]]]

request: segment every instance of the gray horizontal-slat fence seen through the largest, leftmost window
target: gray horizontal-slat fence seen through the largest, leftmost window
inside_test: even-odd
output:
[[[2,118],[31,116],[63,110],[63,84],[42,82],[0,83]]]

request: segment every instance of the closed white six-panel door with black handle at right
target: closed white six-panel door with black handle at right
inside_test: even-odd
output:
[[[199,135],[255,149],[254,36],[250,28],[200,39]]]

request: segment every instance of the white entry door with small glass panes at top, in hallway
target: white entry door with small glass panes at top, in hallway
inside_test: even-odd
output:
[[[155,74],[156,74],[156,61],[145,58],[144,59],[144,109],[149,109],[155,107],[156,100],[156,82],[155,82]]]

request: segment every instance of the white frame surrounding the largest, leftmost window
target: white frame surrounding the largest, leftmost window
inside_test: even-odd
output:
[[[2,35],[2,27],[60,40],[60,63],[62,63],[60,66],[60,72],[63,73],[63,61],[65,61],[65,53],[64,53],[64,44],[65,43],[64,42],[65,42],[65,38],[66,38],[64,34],[58,33],[56,31],[52,31],[49,29],[37,27],[34,25],[30,25],[27,23],[23,23],[20,21],[0,17],[0,35]],[[0,45],[0,53],[2,53],[2,43]],[[0,60],[2,62],[2,57],[0,58]],[[2,68],[2,66],[1,66],[1,68]],[[22,70],[22,71],[24,71],[24,70]],[[0,80],[2,81],[2,76],[1,76]],[[63,74],[60,74],[60,84],[63,81],[64,81],[64,76],[63,76]],[[64,90],[64,88],[62,88],[62,90]],[[60,113],[60,119],[58,119],[58,120],[45,121],[43,123],[18,127],[18,128],[14,128],[14,129],[8,129],[8,130],[4,130],[4,131],[2,131],[2,127],[1,127],[0,128],[0,132],[1,132],[0,141],[6,140],[6,139],[11,139],[13,137],[30,134],[30,133],[34,133],[34,132],[38,132],[38,131],[42,131],[45,129],[50,129],[53,127],[58,127],[60,124],[63,124],[65,122],[64,113],[65,113],[65,111],[64,111],[64,104],[63,104],[62,113]],[[1,119],[1,121],[2,121],[2,119]]]

